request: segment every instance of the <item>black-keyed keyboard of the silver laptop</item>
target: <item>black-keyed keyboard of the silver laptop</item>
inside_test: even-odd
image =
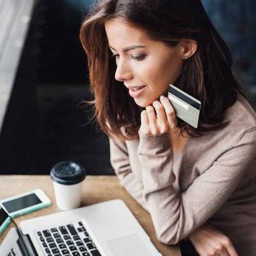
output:
[[[46,256],[101,256],[81,221],[37,234]]]

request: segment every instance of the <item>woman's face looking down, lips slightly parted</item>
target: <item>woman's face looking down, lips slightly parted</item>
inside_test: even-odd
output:
[[[105,24],[109,48],[116,59],[115,79],[124,82],[127,92],[140,107],[166,95],[183,66],[180,44],[169,47],[123,19]]]

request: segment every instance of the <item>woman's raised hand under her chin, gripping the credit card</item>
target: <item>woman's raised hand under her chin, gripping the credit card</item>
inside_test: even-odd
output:
[[[160,96],[160,101],[154,101],[152,105],[141,113],[141,133],[157,137],[177,128],[175,111],[166,96]]]

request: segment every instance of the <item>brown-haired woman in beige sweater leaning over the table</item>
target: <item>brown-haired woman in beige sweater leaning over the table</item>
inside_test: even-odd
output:
[[[256,255],[256,117],[201,2],[100,1],[80,39],[113,169],[158,239],[183,255]],[[197,129],[169,84],[201,101]]]

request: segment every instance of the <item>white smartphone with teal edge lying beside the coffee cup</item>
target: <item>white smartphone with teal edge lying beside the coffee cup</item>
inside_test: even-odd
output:
[[[49,207],[51,201],[42,189],[35,189],[3,199],[0,201],[0,205],[9,214],[9,217],[15,218],[44,207]]]

